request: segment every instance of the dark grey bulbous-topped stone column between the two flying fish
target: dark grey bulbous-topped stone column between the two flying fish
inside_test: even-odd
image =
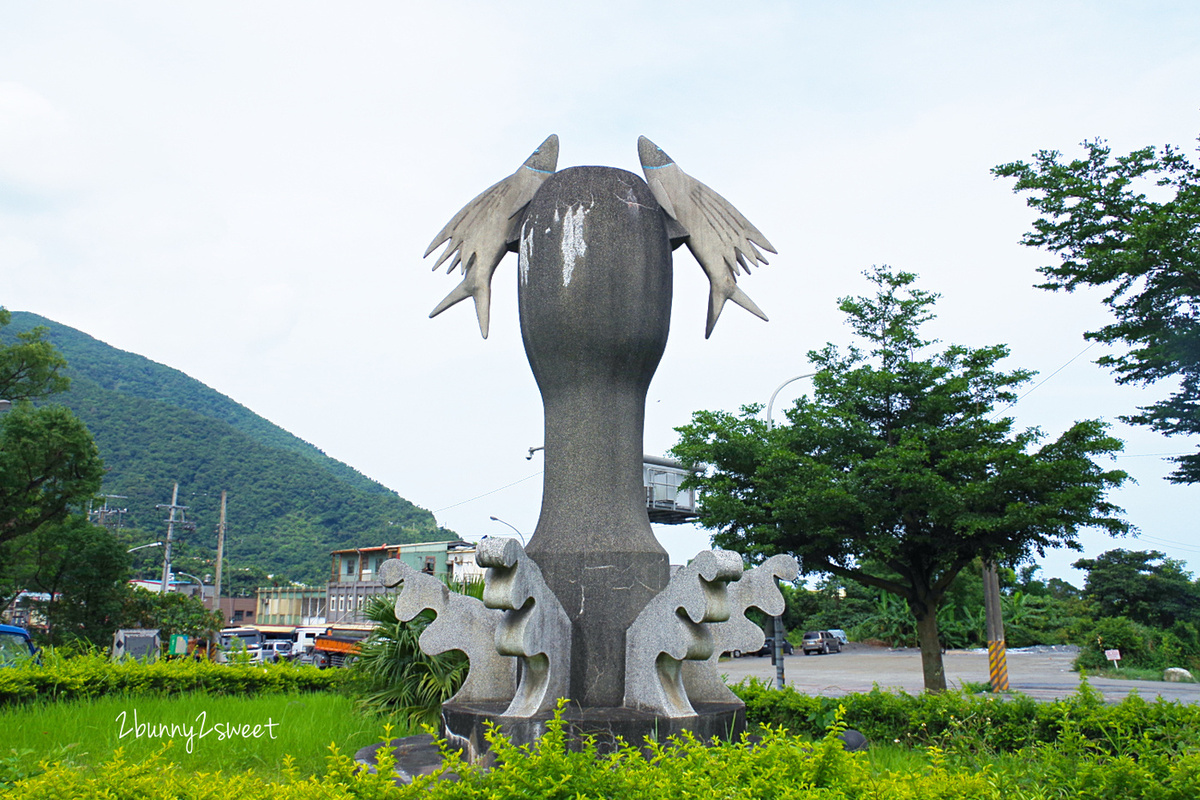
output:
[[[550,178],[521,225],[521,335],[545,408],[528,552],[571,619],[569,696],[618,706],[625,630],[667,582],[642,488],[646,392],[671,319],[666,216],[641,178]]]

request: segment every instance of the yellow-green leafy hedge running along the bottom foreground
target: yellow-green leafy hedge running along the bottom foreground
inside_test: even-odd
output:
[[[778,728],[760,728],[751,740],[704,746],[683,739],[653,746],[649,757],[636,747],[612,754],[571,752],[562,723],[533,747],[515,747],[490,736],[498,757],[490,771],[446,756],[443,769],[457,781],[419,777],[410,786],[391,778],[391,754],[380,750],[377,774],[359,770],[336,750],[320,777],[302,780],[287,769],[282,781],[251,772],[187,774],[162,757],[133,764],[120,756],[83,770],[64,764],[40,768],[4,787],[13,800],[46,798],[179,798],[290,800],[325,798],[396,798],[468,800],[529,798],[582,800],[1195,800],[1200,796],[1200,753],[1175,756],[1097,756],[1080,748],[1036,747],[1008,762],[971,764],[930,747],[924,764],[911,770],[876,770],[864,753],[848,753],[838,739],[840,724],[817,742],[806,742]],[[1135,744],[1135,742],[1134,742]],[[0,781],[2,782],[2,781]]]

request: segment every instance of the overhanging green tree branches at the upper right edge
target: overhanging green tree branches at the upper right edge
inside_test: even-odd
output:
[[[1130,349],[1098,363],[1121,384],[1178,378],[1168,399],[1123,419],[1168,435],[1200,434],[1200,169],[1170,145],[1116,158],[1103,140],[1082,146],[1084,157],[1069,163],[1043,150],[1033,163],[992,174],[1015,178],[1013,191],[1028,192],[1042,215],[1021,243],[1062,259],[1042,267],[1040,288],[1109,291],[1104,305],[1116,321],[1085,336]],[[1172,461],[1169,480],[1200,482],[1200,452]]]

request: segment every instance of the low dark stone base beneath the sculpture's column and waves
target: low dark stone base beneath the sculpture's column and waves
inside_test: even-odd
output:
[[[541,738],[546,733],[546,723],[554,718],[548,711],[533,717],[502,716],[506,708],[506,703],[445,703],[442,706],[442,735],[452,747],[461,747],[468,760],[487,765],[491,762],[484,738],[487,722],[494,722],[512,744],[528,745]],[[582,747],[583,740],[590,736],[601,753],[613,752],[619,741],[641,745],[647,736],[666,741],[684,730],[701,741],[710,741],[714,736],[732,740],[745,730],[745,705],[740,700],[696,703],[695,709],[692,716],[664,717],[637,709],[581,709],[569,705],[563,710],[563,722],[570,747]]]

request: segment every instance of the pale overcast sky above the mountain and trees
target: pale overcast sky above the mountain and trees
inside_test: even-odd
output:
[[[1170,386],[1115,386],[1099,345],[1076,357],[1100,295],[1033,288],[1052,259],[1018,243],[1033,215],[989,174],[1094,137],[1192,151],[1198,131],[1188,0],[5,2],[0,305],[181,369],[468,539],[508,533],[493,515],[528,535],[542,433],[516,258],[484,341],[470,303],[427,319],[458,278],[421,254],[547,134],[559,169],[637,173],[646,134],[779,249],[740,283],[770,321],[731,303],[708,341],[707,281],[677,253],[648,453],[847,343],[838,297],[889,264],[942,294],[943,342],[1007,343],[1037,380],[1062,368],[1019,426],[1102,417],[1127,441],[1136,483],[1115,498],[1142,536],[1085,534],[1087,557],[1200,571],[1200,487],[1166,483],[1159,457],[1195,443],[1116,419]],[[234,518],[238,487],[181,491],[222,488]],[[674,563],[708,546],[656,533]],[[1076,558],[1045,570],[1080,584]]]

